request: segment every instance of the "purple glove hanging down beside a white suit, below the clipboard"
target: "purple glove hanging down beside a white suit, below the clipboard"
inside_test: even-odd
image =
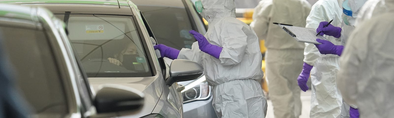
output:
[[[298,86],[304,92],[306,92],[309,89],[309,87],[307,85],[307,81],[310,76],[310,70],[312,70],[312,67],[313,66],[304,62],[304,66],[302,67],[301,74],[299,74],[299,76],[297,78]]]

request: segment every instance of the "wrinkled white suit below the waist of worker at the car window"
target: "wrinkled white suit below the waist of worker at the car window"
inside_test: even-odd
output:
[[[264,118],[267,100],[253,79],[236,79],[214,87],[213,105],[219,118]],[[257,96],[257,97],[256,97]],[[263,109],[261,109],[263,108]],[[264,111],[264,113],[262,112]]]

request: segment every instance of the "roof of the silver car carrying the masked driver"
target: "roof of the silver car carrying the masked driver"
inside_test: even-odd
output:
[[[126,0],[2,0],[0,3],[45,7],[55,14],[67,11],[82,14],[133,15]]]

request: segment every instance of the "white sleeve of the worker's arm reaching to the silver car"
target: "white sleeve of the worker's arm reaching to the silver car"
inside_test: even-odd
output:
[[[203,53],[204,52],[200,50],[198,42],[196,41],[193,42],[193,44],[191,45],[191,49],[182,48],[182,50],[180,50],[179,52],[178,59],[186,59],[202,65],[201,57],[204,56]]]

